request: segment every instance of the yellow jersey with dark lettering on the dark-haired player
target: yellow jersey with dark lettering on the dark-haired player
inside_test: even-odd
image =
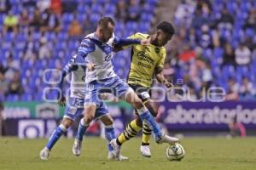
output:
[[[137,32],[132,39],[147,39],[148,34]],[[128,84],[140,85],[150,88],[153,82],[154,71],[157,67],[164,67],[166,48],[152,44],[143,46],[140,44],[131,47],[131,69],[128,76]]]

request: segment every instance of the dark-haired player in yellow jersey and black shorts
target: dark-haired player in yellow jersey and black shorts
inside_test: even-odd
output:
[[[131,71],[128,76],[128,84],[137,93],[143,104],[148,108],[153,116],[157,116],[157,109],[154,108],[153,102],[150,100],[150,87],[153,78],[158,82],[166,85],[166,88],[172,88],[172,83],[168,82],[163,74],[164,62],[166,59],[166,48],[164,46],[172,39],[175,30],[171,23],[161,22],[157,26],[154,35],[136,33],[131,36],[133,39],[141,39],[150,41],[148,46],[140,44],[131,47]],[[126,47],[125,47],[126,48]],[[125,131],[116,139],[116,143],[121,146],[126,140],[136,136],[143,127],[143,142],[141,145],[141,153],[143,156],[151,157],[149,148],[149,138],[151,129],[147,123],[143,123],[137,115],[137,118],[131,121]]]

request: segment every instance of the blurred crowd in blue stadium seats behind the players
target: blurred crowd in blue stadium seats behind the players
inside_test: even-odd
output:
[[[0,2],[0,100],[42,100],[79,41],[102,15],[127,37],[151,29],[157,0],[3,0]],[[256,99],[256,2],[183,0],[175,11],[177,33],[167,48],[165,74],[200,99],[203,89],[222,87],[227,100]],[[130,52],[116,54],[120,77]],[[182,80],[182,81],[178,81]],[[46,98],[55,99],[56,91]]]

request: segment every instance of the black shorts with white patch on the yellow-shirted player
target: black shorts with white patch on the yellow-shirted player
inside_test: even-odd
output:
[[[151,90],[150,88],[145,88],[140,85],[134,85],[134,84],[129,84],[129,86],[135,91],[137,96],[143,100],[143,103],[148,101],[151,97]]]

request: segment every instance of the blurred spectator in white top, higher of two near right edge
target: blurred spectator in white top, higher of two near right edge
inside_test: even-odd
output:
[[[236,48],[235,56],[237,65],[248,65],[251,61],[251,51],[245,43],[240,43],[239,47]]]

